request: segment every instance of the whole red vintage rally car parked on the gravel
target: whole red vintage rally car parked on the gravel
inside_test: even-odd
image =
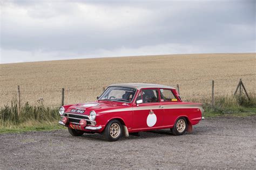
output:
[[[144,83],[112,84],[97,101],[64,105],[62,121],[72,136],[103,133],[108,141],[140,131],[171,129],[174,135],[191,132],[204,110],[200,103],[181,101],[170,86]]]

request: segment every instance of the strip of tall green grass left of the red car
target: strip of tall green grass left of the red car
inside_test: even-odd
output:
[[[64,129],[64,126],[58,124],[58,110],[45,107],[43,101],[37,105],[25,103],[18,116],[17,103],[14,101],[11,106],[0,108],[0,133]]]

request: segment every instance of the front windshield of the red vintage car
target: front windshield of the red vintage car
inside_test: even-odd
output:
[[[129,87],[109,87],[98,100],[131,103],[135,93],[136,89]]]

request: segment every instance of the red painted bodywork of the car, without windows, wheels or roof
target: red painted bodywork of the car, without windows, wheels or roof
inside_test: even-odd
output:
[[[137,90],[136,95],[133,98],[131,103],[125,102],[116,102],[116,101],[95,101],[90,103],[79,103],[73,105],[64,105],[66,113],[72,113],[72,109],[79,108],[84,110],[83,114],[77,115],[90,115],[90,112],[94,110],[96,112],[96,125],[91,125],[86,123],[84,119],[80,120],[79,125],[71,125],[70,128],[75,127],[75,129],[83,131],[94,131],[94,132],[103,132],[105,126],[112,119],[119,119],[119,121],[124,124],[129,132],[138,132],[138,131],[147,131],[147,130],[156,130],[156,129],[166,129],[173,128],[174,123],[179,117],[185,117],[188,122],[188,131],[192,131],[192,125],[199,123],[202,117],[201,108],[202,104],[200,103],[188,103],[183,102],[178,97],[178,91],[176,89],[170,88],[143,88],[143,89],[157,89],[158,95],[160,96],[160,89],[171,90],[174,96],[176,96],[177,101],[168,101],[161,102],[160,97],[159,101],[156,103],[142,103],[137,106],[136,98],[140,93],[140,90]],[[84,104],[96,104],[91,107],[85,107]],[[163,108],[159,108],[159,107]],[[146,108],[152,107],[152,108]],[[146,109],[144,109],[146,108]],[[121,111],[116,111],[123,109]],[[147,125],[147,116],[149,115],[150,110],[154,112],[157,117],[157,122],[152,127]],[[63,117],[63,122],[67,121]],[[83,122],[83,124],[82,124]],[[84,129],[86,126],[98,127],[102,126],[102,129],[99,130],[88,130]],[[81,128],[82,127],[82,128]],[[74,129],[74,128],[73,128]]]

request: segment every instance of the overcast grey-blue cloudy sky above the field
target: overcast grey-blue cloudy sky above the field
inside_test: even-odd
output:
[[[0,2],[0,63],[256,48],[256,1]]]

